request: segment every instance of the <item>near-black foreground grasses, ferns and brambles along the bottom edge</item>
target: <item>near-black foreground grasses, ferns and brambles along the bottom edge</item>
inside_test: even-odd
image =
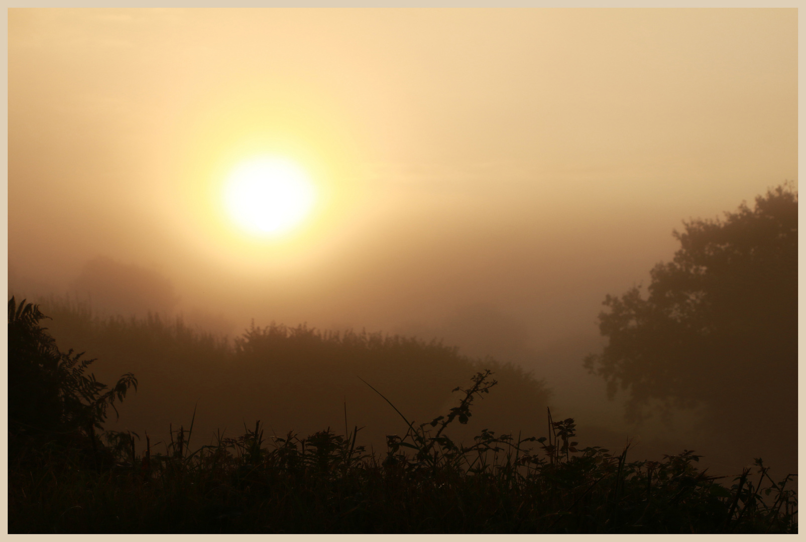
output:
[[[760,459],[721,479],[690,451],[628,461],[629,445],[579,449],[574,420],[550,412],[546,437],[452,440],[496,385],[489,370],[455,389],[444,416],[417,424],[398,411],[406,430],[385,452],[357,445],[346,413],[343,434],[257,422],[195,448],[193,420],[159,443],[102,432],[137,380],[107,389],[43,318],[10,300],[10,532],[797,532],[791,477],[775,482]]]

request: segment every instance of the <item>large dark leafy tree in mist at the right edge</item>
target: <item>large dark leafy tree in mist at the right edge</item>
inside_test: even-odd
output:
[[[640,288],[606,296],[609,344],[584,363],[611,397],[626,392],[628,419],[700,406],[712,428],[761,424],[795,442],[797,213],[797,192],[783,185],[754,209],[683,222],[646,298]]]

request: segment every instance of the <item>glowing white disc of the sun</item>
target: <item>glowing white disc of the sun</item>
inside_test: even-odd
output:
[[[233,221],[257,234],[282,234],[314,205],[314,187],[289,160],[274,157],[240,163],[226,179],[224,204]]]

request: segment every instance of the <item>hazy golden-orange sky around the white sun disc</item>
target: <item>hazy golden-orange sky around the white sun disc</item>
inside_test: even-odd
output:
[[[238,326],[486,315],[539,348],[596,335],[683,219],[797,179],[795,9],[8,20],[10,267],[59,292],[105,255]],[[318,193],[268,241],[221,192],[264,153]]]

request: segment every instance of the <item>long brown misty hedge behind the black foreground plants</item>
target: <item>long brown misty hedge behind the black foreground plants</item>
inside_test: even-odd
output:
[[[474,409],[459,438],[482,428],[536,431],[546,423],[549,391],[532,374],[509,363],[467,358],[439,342],[380,333],[332,332],[272,323],[229,339],[193,329],[177,317],[96,317],[87,304],[58,296],[39,300],[47,325],[63,348],[99,358],[98,379],[122,371],[139,379],[139,391],[110,427],[168,437],[168,424],[189,427],[206,444],[218,429],[243,432],[261,420],[284,434],[305,434],[347,424],[365,427],[359,438],[384,447],[387,434],[405,424],[367,383],[412,420],[431,420],[454,402],[451,390],[489,368],[498,393]],[[360,379],[359,379],[360,377]],[[110,422],[111,423],[111,422]]]

